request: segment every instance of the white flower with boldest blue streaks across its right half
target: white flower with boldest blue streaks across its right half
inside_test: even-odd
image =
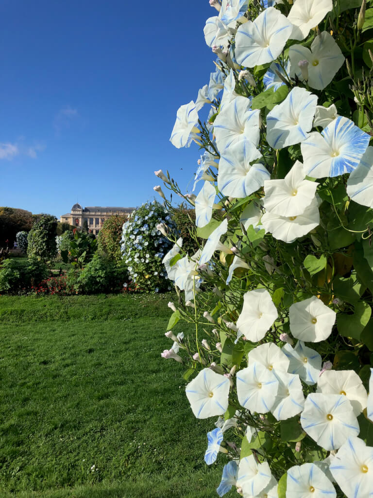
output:
[[[370,135],[344,116],[338,116],[321,133],[313,131],[300,144],[308,176],[322,178],[351,173],[359,164]]]

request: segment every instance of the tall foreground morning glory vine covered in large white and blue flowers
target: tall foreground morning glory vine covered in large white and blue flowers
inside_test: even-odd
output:
[[[204,35],[217,69],[171,134],[176,147],[204,148],[204,182],[184,195],[156,172],[194,205],[206,240],[191,255],[169,234],[165,266],[186,302],[169,303],[174,344],[162,357],[185,365],[195,417],[218,417],[205,462],[225,464],[220,497],[234,487],[244,497],[369,498],[373,8],[210,4],[218,15]],[[180,320],[193,336],[174,335]]]

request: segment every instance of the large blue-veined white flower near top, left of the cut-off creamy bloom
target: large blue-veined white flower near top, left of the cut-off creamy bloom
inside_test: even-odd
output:
[[[239,64],[255,67],[275,60],[292,31],[292,24],[279,10],[269,7],[236,33],[235,54]]]

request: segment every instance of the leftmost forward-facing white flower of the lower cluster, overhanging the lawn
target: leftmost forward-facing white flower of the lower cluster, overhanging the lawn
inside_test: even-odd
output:
[[[196,418],[223,415],[228,408],[230,383],[227,377],[203,369],[187,384],[186,393]]]

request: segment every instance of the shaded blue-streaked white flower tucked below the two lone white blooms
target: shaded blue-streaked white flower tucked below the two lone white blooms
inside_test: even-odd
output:
[[[321,370],[321,356],[315,350],[298,341],[295,348],[285,344],[282,351],[290,360],[288,372],[297,373],[308,385],[316,384]]]

